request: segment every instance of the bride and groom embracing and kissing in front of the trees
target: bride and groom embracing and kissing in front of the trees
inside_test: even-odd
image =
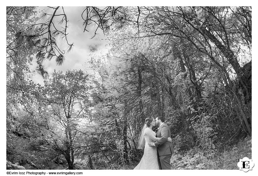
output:
[[[158,126],[155,133],[153,126]],[[148,117],[142,128],[138,143],[138,149],[144,149],[140,163],[134,168],[137,169],[171,169],[170,158],[174,153],[169,126],[164,123],[163,117]]]

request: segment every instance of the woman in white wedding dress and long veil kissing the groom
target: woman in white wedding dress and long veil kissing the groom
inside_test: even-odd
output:
[[[142,134],[137,149],[144,149],[144,154],[140,163],[134,168],[136,169],[159,169],[157,147],[148,146],[148,142],[155,142],[160,138],[156,137],[156,133],[152,130],[155,126],[153,117],[145,119],[145,125],[142,128]],[[168,139],[169,142],[171,138]]]

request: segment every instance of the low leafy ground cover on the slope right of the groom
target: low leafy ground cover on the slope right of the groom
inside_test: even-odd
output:
[[[171,157],[171,169],[239,169],[239,159],[252,159],[252,138],[247,137],[236,145],[207,157],[200,149],[176,153]]]

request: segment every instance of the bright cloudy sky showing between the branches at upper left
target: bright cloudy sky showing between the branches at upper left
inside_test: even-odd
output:
[[[40,9],[48,13],[52,12],[48,7],[40,7]],[[61,8],[58,10],[61,10]],[[64,12],[69,20],[67,23],[67,31],[69,33],[67,38],[69,43],[74,43],[74,47],[73,50],[64,55],[66,59],[61,66],[56,65],[54,58],[51,61],[46,60],[42,63],[48,74],[51,75],[54,69],[62,70],[63,72],[67,69],[87,69],[87,64],[85,63],[87,63],[89,59],[89,54],[99,55],[105,54],[108,51],[108,48],[105,47],[106,36],[103,35],[102,31],[99,31],[99,35],[96,35],[93,39],[90,39],[95,31],[93,26],[88,29],[89,32],[83,32],[84,26],[81,17],[83,10],[84,7],[64,7]],[[67,45],[65,40],[59,41],[58,43],[60,46],[63,44]],[[66,48],[66,45],[64,45],[64,48]],[[34,59],[31,69],[35,70],[36,66],[36,59]],[[43,78],[39,73],[35,72],[31,78],[35,83],[43,84]]]

